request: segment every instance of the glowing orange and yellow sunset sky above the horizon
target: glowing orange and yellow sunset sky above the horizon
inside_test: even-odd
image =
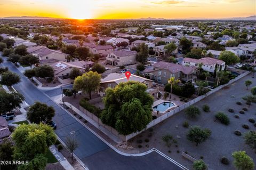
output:
[[[226,18],[256,14],[255,0],[1,0],[0,17]]]

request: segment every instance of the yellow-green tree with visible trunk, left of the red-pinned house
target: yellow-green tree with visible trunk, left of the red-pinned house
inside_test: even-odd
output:
[[[77,91],[89,93],[90,99],[92,99],[91,93],[98,90],[100,85],[101,75],[98,72],[85,72],[82,76],[78,76],[75,79],[74,88]]]

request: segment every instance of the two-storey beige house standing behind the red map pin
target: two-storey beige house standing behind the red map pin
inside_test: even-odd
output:
[[[111,66],[127,66],[136,63],[136,51],[113,51],[108,53],[106,63]]]

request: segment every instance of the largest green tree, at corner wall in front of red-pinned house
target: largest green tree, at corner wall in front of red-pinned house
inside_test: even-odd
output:
[[[102,123],[123,135],[141,131],[151,121],[154,102],[146,90],[146,85],[133,81],[119,83],[114,89],[107,88],[103,98]]]

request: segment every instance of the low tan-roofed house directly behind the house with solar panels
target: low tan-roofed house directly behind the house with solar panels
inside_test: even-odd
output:
[[[29,47],[27,49],[29,54],[33,54],[39,58],[39,60],[55,59],[59,61],[65,61],[68,54],[50,50],[43,46]]]

